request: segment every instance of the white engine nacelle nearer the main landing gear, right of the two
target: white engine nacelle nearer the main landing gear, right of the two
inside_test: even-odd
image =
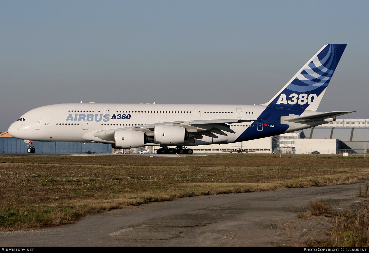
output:
[[[157,125],[154,126],[154,141],[159,144],[178,144],[184,142],[186,129],[184,127]]]

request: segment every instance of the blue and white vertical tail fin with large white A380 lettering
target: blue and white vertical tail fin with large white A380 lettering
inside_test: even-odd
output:
[[[346,45],[324,45],[268,103],[262,105],[316,111]]]

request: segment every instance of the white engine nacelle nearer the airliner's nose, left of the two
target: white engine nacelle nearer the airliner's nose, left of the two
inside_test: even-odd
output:
[[[136,130],[114,131],[115,148],[138,148],[145,144],[145,133]]]

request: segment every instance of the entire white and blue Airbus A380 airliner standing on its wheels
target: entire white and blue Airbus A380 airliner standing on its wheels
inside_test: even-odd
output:
[[[234,143],[306,129],[352,112],[316,112],[345,47],[323,46],[262,105],[48,105],[25,113],[8,131],[16,138],[30,140],[28,153],[35,153],[32,141],[89,141],[108,143],[113,148],[160,146],[158,154],[192,154],[190,146]]]

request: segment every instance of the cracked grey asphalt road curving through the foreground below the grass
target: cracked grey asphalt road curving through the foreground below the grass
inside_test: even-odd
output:
[[[365,183],[365,182],[364,182]],[[1,246],[294,246],[329,226],[299,219],[308,200],[357,201],[358,184],[181,198],[88,215],[76,223],[1,232]]]

